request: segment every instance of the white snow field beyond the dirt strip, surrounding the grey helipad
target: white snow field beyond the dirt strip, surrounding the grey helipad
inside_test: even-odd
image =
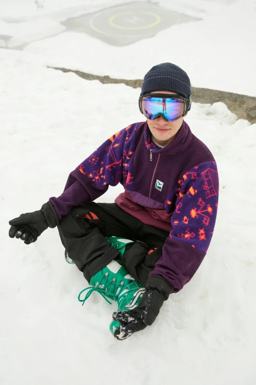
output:
[[[0,29],[13,36],[10,47],[31,41],[25,51],[42,56],[48,65],[142,79],[154,64],[170,61],[189,73],[194,87],[256,96],[256,0],[159,0],[160,6],[201,21],[175,25],[127,47],[87,34],[60,33],[65,30],[60,22],[129,1],[37,2],[43,7],[37,9],[32,0],[0,4]]]

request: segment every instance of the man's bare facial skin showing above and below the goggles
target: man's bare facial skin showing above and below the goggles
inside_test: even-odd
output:
[[[168,91],[154,91],[151,93],[166,93],[171,95],[177,95],[175,92]],[[160,146],[166,146],[171,143],[176,137],[182,122],[183,117],[180,117],[177,120],[169,121],[163,117],[159,117],[156,119],[148,119],[147,122],[149,125],[149,129],[154,136],[155,142]]]

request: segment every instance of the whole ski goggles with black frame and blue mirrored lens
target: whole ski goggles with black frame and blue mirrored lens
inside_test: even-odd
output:
[[[176,120],[190,110],[191,95],[185,98],[179,94],[146,93],[139,97],[140,112],[148,119],[162,116],[166,120]]]

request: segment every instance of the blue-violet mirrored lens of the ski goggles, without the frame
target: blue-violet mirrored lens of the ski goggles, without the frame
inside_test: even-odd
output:
[[[167,120],[176,120],[184,113],[184,100],[144,96],[141,107],[146,118],[154,119],[158,114],[163,114]]]

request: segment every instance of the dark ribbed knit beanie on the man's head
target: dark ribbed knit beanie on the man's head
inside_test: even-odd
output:
[[[153,91],[176,92],[188,98],[191,95],[189,77],[178,65],[172,63],[157,64],[144,76],[141,95]]]

